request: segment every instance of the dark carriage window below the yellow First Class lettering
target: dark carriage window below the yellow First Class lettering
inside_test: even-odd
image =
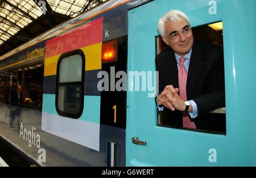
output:
[[[31,108],[42,105],[42,64],[10,71],[9,102]]]

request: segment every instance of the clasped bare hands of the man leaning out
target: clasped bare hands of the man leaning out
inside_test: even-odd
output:
[[[158,104],[164,105],[168,109],[174,110],[185,110],[184,100],[179,96],[179,89],[174,88],[172,85],[167,85],[163,92],[158,97]]]

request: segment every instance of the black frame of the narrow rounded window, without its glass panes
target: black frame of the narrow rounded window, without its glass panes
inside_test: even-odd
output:
[[[68,56],[73,56],[73,55],[80,55],[82,57],[82,78],[80,82],[60,82],[59,83],[59,72],[60,72],[60,62],[62,59]],[[56,71],[56,89],[55,89],[55,108],[56,111],[59,115],[63,117],[68,117],[68,118],[73,118],[73,119],[78,119],[82,115],[82,111],[84,110],[84,75],[85,75],[85,55],[84,52],[81,49],[76,49],[74,51],[66,52],[60,55],[58,61],[57,61],[57,71]],[[59,110],[58,107],[58,97],[59,97],[59,86],[72,86],[72,85],[81,85],[81,91],[80,94],[81,96],[81,107],[78,113],[73,114],[73,113],[68,113],[65,111]]]

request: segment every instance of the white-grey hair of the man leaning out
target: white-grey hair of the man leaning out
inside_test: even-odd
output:
[[[189,26],[191,26],[189,22],[189,18],[187,15],[185,15],[183,12],[179,10],[170,10],[168,13],[164,14],[162,18],[159,19],[158,21],[158,32],[161,36],[166,36],[166,31],[164,29],[164,23],[166,22],[180,22],[181,18],[184,18],[187,20]]]

